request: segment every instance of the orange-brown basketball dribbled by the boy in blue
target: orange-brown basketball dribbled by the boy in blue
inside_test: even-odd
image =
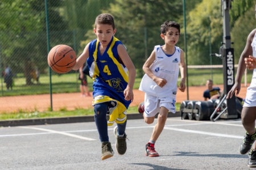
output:
[[[56,73],[68,73],[76,64],[76,53],[68,45],[56,45],[48,54],[48,65]]]

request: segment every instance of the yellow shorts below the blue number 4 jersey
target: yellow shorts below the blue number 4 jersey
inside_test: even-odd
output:
[[[112,126],[114,122],[117,124],[123,124],[126,121],[126,107],[121,102],[110,98],[109,96],[96,96],[93,99],[93,105],[98,103],[104,103],[108,101],[113,101],[115,106],[109,108],[109,121],[108,126]]]

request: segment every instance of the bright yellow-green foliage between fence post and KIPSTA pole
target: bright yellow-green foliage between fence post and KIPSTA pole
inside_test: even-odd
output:
[[[209,65],[209,36],[211,35],[213,53],[218,53],[222,40],[220,2],[203,0],[188,15],[188,64]],[[220,64],[221,59],[213,58],[213,63]]]

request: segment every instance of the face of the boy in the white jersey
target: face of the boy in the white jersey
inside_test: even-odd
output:
[[[168,28],[168,31],[165,34],[161,33],[160,36],[168,45],[175,45],[180,37],[179,30],[175,27]]]

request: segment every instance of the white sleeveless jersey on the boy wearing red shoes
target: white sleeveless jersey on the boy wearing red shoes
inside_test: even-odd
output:
[[[141,80],[139,90],[149,95],[164,97],[174,95],[177,92],[177,79],[179,77],[180,48],[175,46],[172,55],[166,55],[160,45],[155,46],[155,61],[150,70],[159,78],[167,80],[167,83],[160,87],[147,74]]]

